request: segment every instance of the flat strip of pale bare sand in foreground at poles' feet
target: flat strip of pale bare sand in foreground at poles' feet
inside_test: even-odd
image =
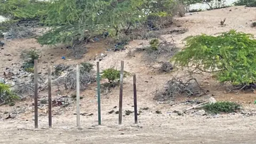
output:
[[[117,117],[117,115],[116,115]],[[145,119],[147,117],[147,119]],[[126,117],[125,117],[126,118]],[[42,119],[42,118],[41,118]],[[129,116],[132,122],[132,116]],[[255,143],[256,117],[224,115],[220,118],[169,116],[167,114],[139,117],[142,128],[123,126],[103,121],[108,127],[88,129],[89,119],[82,121],[83,130],[77,130],[75,116],[69,122],[54,124],[53,129],[36,131],[17,130],[17,122],[5,123],[0,129],[0,143]],[[114,120],[114,119],[113,119]],[[117,120],[117,119],[116,119]],[[47,121],[43,118],[42,121]],[[148,121],[148,122],[147,122]],[[116,121],[117,122],[117,121]],[[157,123],[154,123],[157,122]],[[12,123],[12,124],[11,124]],[[32,128],[31,122],[20,122],[18,128]],[[56,121],[54,121],[56,123]],[[133,125],[132,123],[130,123]],[[67,126],[69,125],[69,126]],[[45,125],[46,127],[46,125]],[[124,130],[124,131],[119,131]],[[122,134],[123,133],[123,134]]]

